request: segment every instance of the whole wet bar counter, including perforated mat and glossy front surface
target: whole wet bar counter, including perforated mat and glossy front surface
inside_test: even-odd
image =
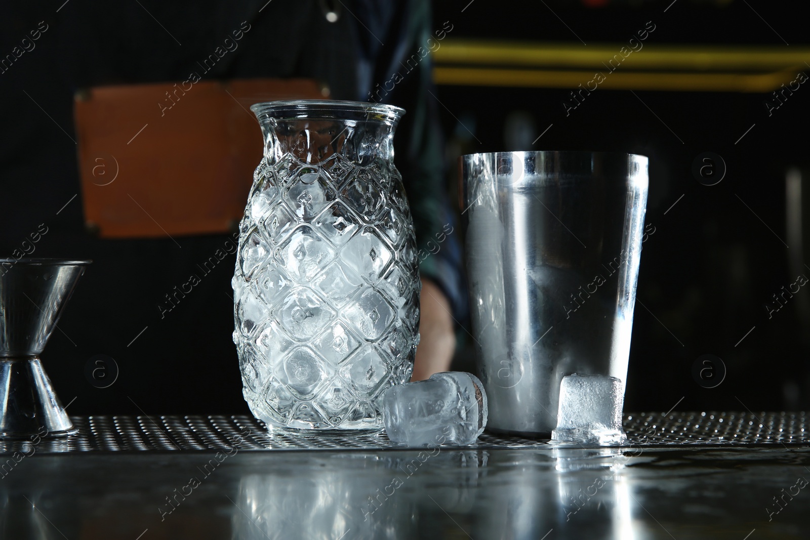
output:
[[[810,538],[804,413],[630,414],[621,449],[72,420],[66,440],[0,441],[0,538]]]

